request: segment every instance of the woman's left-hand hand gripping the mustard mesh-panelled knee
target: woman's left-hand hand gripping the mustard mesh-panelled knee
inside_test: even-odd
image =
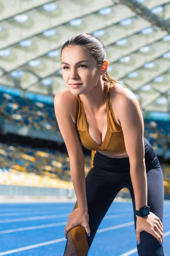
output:
[[[68,222],[67,222],[67,225],[65,226],[65,238],[67,239],[66,236],[69,230],[79,225],[85,228],[87,235],[90,235],[91,230],[88,225],[88,221],[89,221],[88,212],[85,212],[83,209],[79,207],[74,209],[74,211],[69,214]]]

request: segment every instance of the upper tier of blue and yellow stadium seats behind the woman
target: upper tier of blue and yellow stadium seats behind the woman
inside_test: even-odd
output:
[[[5,119],[17,122],[20,126],[27,125],[31,129],[60,134],[52,104],[35,102],[0,92],[0,113],[3,113]],[[154,149],[167,150],[170,121],[144,119],[144,136]]]

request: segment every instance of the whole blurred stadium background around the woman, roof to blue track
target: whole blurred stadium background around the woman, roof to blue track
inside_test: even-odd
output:
[[[105,44],[108,73],[142,106],[144,137],[164,175],[164,242],[170,256],[170,0],[0,0],[0,255],[63,255],[64,226],[76,195],[53,102],[66,87],[60,50],[79,33]],[[91,151],[83,152],[87,173]],[[115,201],[129,202],[113,203],[117,207],[105,217],[110,222],[102,222],[98,232],[105,233],[96,236],[89,256],[137,256],[130,200],[127,188],[116,196]],[[44,203],[50,201],[55,204]],[[53,218],[60,219],[51,223]],[[118,230],[122,222],[132,226],[128,233]],[[108,226],[116,235],[106,232]]]

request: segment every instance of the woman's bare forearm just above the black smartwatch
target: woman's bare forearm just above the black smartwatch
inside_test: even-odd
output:
[[[144,160],[130,166],[130,177],[135,195],[136,210],[147,205],[147,176]]]

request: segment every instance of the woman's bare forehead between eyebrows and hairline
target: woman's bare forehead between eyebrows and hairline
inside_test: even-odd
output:
[[[96,59],[85,49],[79,46],[68,46],[62,50],[61,60],[67,63],[77,63],[81,60],[95,62]]]

